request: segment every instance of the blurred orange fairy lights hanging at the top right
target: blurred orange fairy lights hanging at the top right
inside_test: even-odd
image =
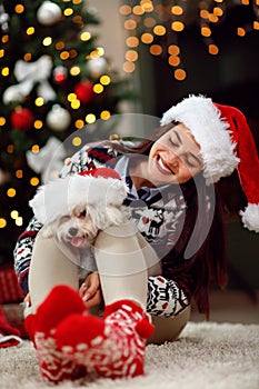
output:
[[[255,13],[255,20],[251,24],[237,28],[237,36],[245,37],[251,30],[259,30],[259,0],[236,0],[233,2],[236,6],[252,4]],[[135,4],[132,6],[132,3]],[[211,27],[223,20],[227,3],[225,0],[200,0],[197,2],[198,10],[195,10],[197,12],[193,12],[193,3],[196,2],[188,0],[126,1],[120,7],[120,14],[124,18],[124,29],[128,31],[126,61],[123,63],[124,72],[135,72],[139,57],[138,49],[140,44],[146,44],[149,47],[150,54],[167,58],[169,66],[173,69],[172,74],[176,80],[186,80],[188,74],[181,61],[178,34],[186,29],[188,20],[191,17],[193,18],[193,14],[197,14],[200,36],[209,54],[218,56],[220,48],[213,41]],[[165,43],[160,44],[158,42],[159,37],[169,34],[170,41],[168,39],[167,47],[165,47]]]

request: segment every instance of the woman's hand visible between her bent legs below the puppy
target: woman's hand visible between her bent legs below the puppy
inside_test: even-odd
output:
[[[79,289],[79,296],[88,308],[101,303],[100,277],[97,272],[88,275]]]

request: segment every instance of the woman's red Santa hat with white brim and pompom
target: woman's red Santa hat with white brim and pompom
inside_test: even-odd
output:
[[[245,211],[240,211],[242,222],[249,230],[259,232],[259,160],[242,112],[203,96],[190,96],[170,108],[161,124],[172,121],[183,123],[199,143],[207,184],[238,170],[248,199]]]

